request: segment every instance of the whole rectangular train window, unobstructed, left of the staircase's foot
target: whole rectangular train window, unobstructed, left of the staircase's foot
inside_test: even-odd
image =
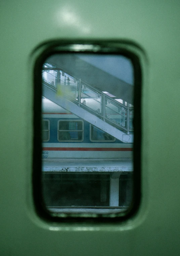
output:
[[[58,141],[83,141],[83,121],[59,120]]]

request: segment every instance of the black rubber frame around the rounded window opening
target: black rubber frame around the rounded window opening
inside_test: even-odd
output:
[[[100,53],[100,54],[119,54],[128,57],[132,61],[134,70],[134,144],[133,144],[133,201],[128,211],[116,216],[108,217],[103,215],[82,217],[69,215],[68,217],[59,217],[57,214],[50,214],[43,204],[41,177],[42,177],[42,131],[41,131],[41,98],[42,98],[42,65],[46,59],[57,53]],[[141,140],[142,140],[142,79],[144,70],[146,70],[147,57],[144,50],[135,42],[129,40],[89,40],[89,39],[61,39],[44,42],[38,45],[31,54],[32,72],[34,85],[33,101],[33,166],[32,166],[32,195],[34,209],[37,215],[50,222],[61,223],[120,223],[137,214],[141,203]],[[38,85],[38,86],[37,86]],[[33,111],[33,110],[32,110]]]

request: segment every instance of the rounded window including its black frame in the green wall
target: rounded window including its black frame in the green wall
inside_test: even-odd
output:
[[[129,218],[137,212],[141,195],[136,46],[64,40],[44,44],[38,52],[33,155],[37,213],[58,222]],[[51,124],[50,138],[43,142],[47,130],[42,113]],[[103,134],[109,137],[101,143]]]

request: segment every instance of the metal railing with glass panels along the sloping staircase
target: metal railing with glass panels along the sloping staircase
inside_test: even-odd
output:
[[[80,78],[71,76],[48,63],[45,66],[42,68],[45,86],[127,134],[133,131],[133,106],[130,107],[129,103],[122,104]]]

